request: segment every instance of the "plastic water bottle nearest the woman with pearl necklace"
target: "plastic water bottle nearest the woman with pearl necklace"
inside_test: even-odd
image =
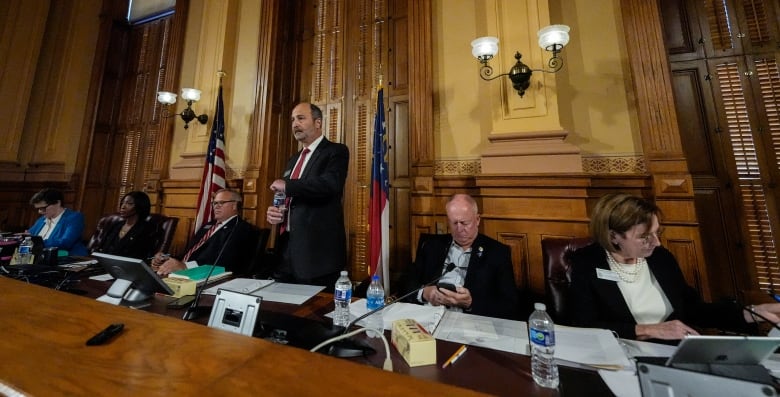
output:
[[[535,303],[528,318],[528,339],[531,341],[531,374],[542,387],[558,387],[558,365],[555,364],[555,324],[544,303]]]

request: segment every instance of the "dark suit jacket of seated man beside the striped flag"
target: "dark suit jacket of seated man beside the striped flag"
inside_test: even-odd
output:
[[[197,244],[213,225],[214,222],[210,222],[201,227],[184,252],[189,252],[190,248]],[[249,267],[254,259],[259,237],[260,229],[237,216],[209,237],[189,260],[197,261],[198,265],[224,266],[225,270],[233,272],[234,275],[246,275],[251,270]],[[222,251],[221,257],[220,251]],[[214,263],[217,258],[219,261]]]

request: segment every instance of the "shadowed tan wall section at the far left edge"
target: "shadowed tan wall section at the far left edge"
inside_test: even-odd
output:
[[[10,1],[0,8],[0,26],[10,27],[0,40],[3,180],[70,180],[86,150],[100,9],[101,0]]]

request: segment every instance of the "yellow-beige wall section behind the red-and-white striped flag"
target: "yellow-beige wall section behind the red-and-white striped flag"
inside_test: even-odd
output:
[[[209,122],[206,125],[193,122],[185,130],[183,122],[177,120],[171,150],[172,179],[201,177],[216,106],[219,70],[226,73],[223,100],[228,177],[243,177],[257,88],[259,20],[260,3],[256,1],[193,0],[190,3],[178,89],[195,87],[203,91],[200,102],[193,108],[198,114],[206,113]],[[178,106],[181,111],[184,104],[180,101]]]

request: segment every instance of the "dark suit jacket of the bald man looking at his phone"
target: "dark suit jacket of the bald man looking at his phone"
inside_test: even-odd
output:
[[[450,244],[452,236],[449,234],[431,236],[422,244],[405,283],[405,293],[441,276]],[[477,235],[471,245],[471,259],[464,287],[471,292],[472,314],[518,319],[518,294],[512,255],[506,245],[483,234]],[[419,303],[416,294],[408,300]]]

